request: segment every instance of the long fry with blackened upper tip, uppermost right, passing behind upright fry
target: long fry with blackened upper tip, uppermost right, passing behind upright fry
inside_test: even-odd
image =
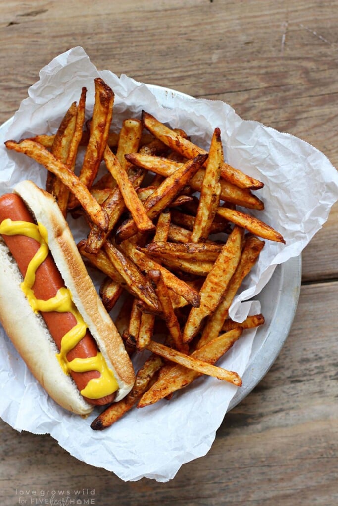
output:
[[[178,152],[185,158],[195,158],[198,154],[206,153],[204,149],[180,136],[179,133],[171,130],[168,126],[161,123],[152,114],[149,114],[146,111],[142,111],[142,123],[144,127],[154,135],[154,137],[160,139],[173,151]],[[221,176],[226,181],[229,181],[232,184],[235,183],[235,185],[239,188],[257,190],[264,186],[261,181],[247,176],[238,169],[231,167],[229,164],[227,164],[224,168],[223,166],[221,167]]]

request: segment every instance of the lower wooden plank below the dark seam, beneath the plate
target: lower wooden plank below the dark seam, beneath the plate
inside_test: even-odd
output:
[[[124,483],[75,460],[49,436],[18,434],[3,423],[2,504],[14,504],[15,489],[24,487],[39,493],[89,487],[95,488],[100,506],[117,499],[121,506],[293,506],[295,498],[302,506],[333,506],[338,492],[333,353],[338,322],[328,320],[326,309],[333,309],[337,296],[336,283],[302,288],[294,324],[275,364],[224,418],[209,453],[183,465],[171,482]],[[314,306],[316,317],[310,318]]]

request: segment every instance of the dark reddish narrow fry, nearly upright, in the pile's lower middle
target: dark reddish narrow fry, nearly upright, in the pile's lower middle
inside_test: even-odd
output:
[[[175,348],[182,353],[187,353],[188,347],[186,345],[183,345],[181,329],[177,317],[174,313],[169,289],[163,280],[161,271],[151,270],[148,272],[148,277],[154,283],[155,291],[161,305],[161,316],[166,322]]]

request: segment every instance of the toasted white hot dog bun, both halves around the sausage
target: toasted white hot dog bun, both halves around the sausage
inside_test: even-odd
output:
[[[48,246],[72,300],[114,372],[122,399],[134,384],[134,370],[122,339],[106,312],[55,199],[31,181],[14,189],[36,222],[47,230]],[[14,346],[46,392],[62,407],[86,415],[93,406],[85,401],[57,360],[57,347],[44,320],[33,313],[20,288],[22,275],[8,247],[0,241],[0,319]],[[15,314],[14,314],[15,310]]]

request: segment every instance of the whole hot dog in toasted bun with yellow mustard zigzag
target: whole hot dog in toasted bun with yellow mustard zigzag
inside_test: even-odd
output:
[[[79,414],[124,397],[133,367],[53,197],[20,183],[0,197],[0,233],[0,320],[47,393]]]

